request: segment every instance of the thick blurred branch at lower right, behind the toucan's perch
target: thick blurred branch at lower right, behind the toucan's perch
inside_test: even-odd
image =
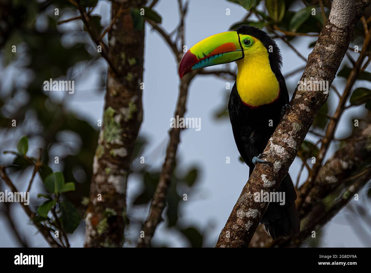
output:
[[[309,215],[311,215],[309,218],[316,217],[318,219],[318,211],[327,213],[324,209],[324,203],[328,203],[328,200],[324,200],[324,198],[327,199],[329,195],[337,197],[339,194],[336,193],[336,189],[345,187],[354,175],[364,173],[366,175],[364,181],[367,181],[367,178],[370,177],[370,174],[367,176],[367,172],[371,171],[366,170],[365,172],[365,167],[362,164],[371,158],[370,139],[371,116],[368,116],[366,121],[360,122],[359,127],[355,127],[352,136],[344,140],[342,147],[319,170],[311,191],[299,209],[302,220]],[[315,221],[311,220],[310,222]],[[309,223],[309,221],[304,220],[304,223]],[[307,227],[302,228],[308,229]],[[304,239],[306,238],[301,236],[299,240],[292,241],[295,241],[296,245],[300,245]],[[273,243],[272,237],[265,232],[261,225],[257,228],[249,247],[283,246],[288,244],[287,241],[280,240]]]

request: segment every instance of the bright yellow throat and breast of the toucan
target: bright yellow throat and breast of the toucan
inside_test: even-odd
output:
[[[267,49],[260,40],[252,38],[252,47],[237,61],[237,92],[247,105],[260,106],[278,98],[279,83],[270,69]]]

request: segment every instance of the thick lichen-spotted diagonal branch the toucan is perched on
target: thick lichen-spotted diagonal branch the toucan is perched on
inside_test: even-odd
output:
[[[330,16],[318,41],[308,57],[302,75],[306,79],[328,81],[331,85],[348,49],[354,25],[370,0],[334,0]],[[290,105],[292,109],[281,120],[264,151],[272,165],[258,164],[234,205],[216,247],[247,247],[259,225],[268,203],[255,202],[253,194],[263,190],[275,191],[289,170],[315,115],[326,102],[323,91],[296,88]]]

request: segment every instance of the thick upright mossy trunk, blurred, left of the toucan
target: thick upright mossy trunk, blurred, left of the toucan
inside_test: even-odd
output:
[[[112,1],[111,18],[146,0]],[[130,13],[121,13],[108,32],[107,75],[102,129],[93,163],[85,247],[122,247],[126,188],[132,151],[142,122],[144,29]],[[117,75],[118,74],[118,75]]]

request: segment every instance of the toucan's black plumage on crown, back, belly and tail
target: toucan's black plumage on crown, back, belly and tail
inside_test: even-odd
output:
[[[281,73],[280,50],[275,41],[267,33],[255,27],[243,25],[237,27],[236,31],[254,36],[263,43],[269,54],[270,68],[280,87],[279,96],[274,102],[253,108],[242,102],[236,83],[230,93],[228,112],[234,140],[241,157],[250,168],[251,175],[255,168],[253,157],[263,153],[280,121],[283,106],[289,103],[289,94]],[[270,120],[273,126],[269,126]],[[289,174],[282,180],[277,191],[285,192],[286,204],[281,206],[279,203],[270,203],[260,222],[265,224],[266,231],[275,240],[280,237],[297,236],[300,231],[300,218],[295,206],[296,192]]]

